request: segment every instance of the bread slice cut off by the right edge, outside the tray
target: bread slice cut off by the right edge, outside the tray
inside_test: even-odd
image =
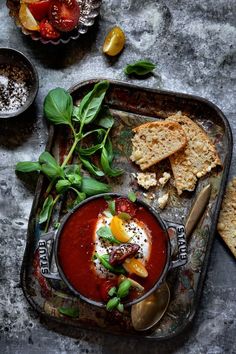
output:
[[[236,257],[236,177],[227,186],[217,230]]]

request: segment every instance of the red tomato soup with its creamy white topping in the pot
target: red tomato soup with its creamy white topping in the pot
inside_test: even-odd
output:
[[[155,285],[168,257],[165,231],[141,203],[120,197],[110,201],[99,197],[82,204],[67,218],[60,232],[58,263],[73,289],[87,299],[104,302],[104,287],[107,282],[116,286],[119,274],[104,267],[100,256],[107,254],[109,263],[112,252],[118,247],[131,248],[133,253],[136,252],[132,257],[125,255],[124,263],[120,261],[118,265],[125,277],[135,280],[142,288],[141,291],[131,289],[124,301],[129,302],[143,296]],[[134,268],[130,266],[131,259]],[[141,276],[135,271],[136,263],[140,265],[140,262],[146,271]]]

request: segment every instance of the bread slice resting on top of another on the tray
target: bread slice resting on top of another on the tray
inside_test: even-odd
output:
[[[141,170],[169,157],[187,144],[185,133],[176,122],[149,122],[134,128],[133,132],[130,159]]]

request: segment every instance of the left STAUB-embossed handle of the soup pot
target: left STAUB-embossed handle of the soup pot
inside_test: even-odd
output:
[[[38,250],[39,250],[39,264],[41,274],[48,279],[61,280],[58,272],[51,272],[49,263],[48,242],[54,240],[55,231],[47,232],[39,237]]]

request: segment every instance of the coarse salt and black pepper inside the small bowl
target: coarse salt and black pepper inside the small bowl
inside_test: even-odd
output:
[[[29,74],[16,65],[0,65],[0,112],[17,111],[29,96]]]

